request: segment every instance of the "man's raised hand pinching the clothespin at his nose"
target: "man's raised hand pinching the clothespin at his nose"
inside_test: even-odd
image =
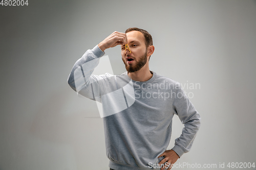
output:
[[[106,48],[114,47],[117,45],[125,45],[127,43],[127,36],[125,33],[119,33],[115,31],[110,36],[106,37],[103,41],[101,41],[98,46],[102,52],[106,50]]]

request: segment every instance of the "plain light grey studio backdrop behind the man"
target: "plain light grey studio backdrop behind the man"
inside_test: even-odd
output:
[[[108,169],[96,103],[67,78],[84,52],[129,27],[153,36],[151,70],[200,83],[185,90],[201,129],[177,163],[256,162],[256,1],[28,3],[0,6],[1,170]],[[120,46],[105,53],[122,74]],[[169,149],[182,127],[175,116]]]

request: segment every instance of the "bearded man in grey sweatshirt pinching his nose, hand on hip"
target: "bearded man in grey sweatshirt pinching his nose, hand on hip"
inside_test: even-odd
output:
[[[104,51],[117,45],[127,71],[119,76],[92,75]],[[88,50],[69,75],[68,83],[78,94],[102,104],[110,169],[170,169],[190,150],[199,130],[200,115],[179,83],[150,70],[154,50],[152,36],[145,30],[114,32]],[[166,150],[174,114],[184,128],[173,149]]]

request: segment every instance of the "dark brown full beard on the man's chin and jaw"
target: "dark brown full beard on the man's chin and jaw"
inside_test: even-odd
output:
[[[130,57],[130,55],[126,55],[126,56]],[[135,72],[135,71],[140,70],[146,64],[146,61],[147,61],[146,52],[145,52],[145,54],[143,54],[142,56],[139,57],[139,61],[136,61],[135,65],[133,65],[133,63],[127,64],[126,59],[122,59],[122,60],[123,60],[123,63],[125,65],[127,72]]]

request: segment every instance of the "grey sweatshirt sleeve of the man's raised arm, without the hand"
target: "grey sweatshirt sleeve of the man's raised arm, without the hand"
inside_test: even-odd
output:
[[[77,92],[77,95],[80,94],[96,101],[100,98],[101,91],[107,87],[104,83],[107,83],[110,74],[97,76],[92,73],[104,54],[96,45],[92,50],[87,50],[74,64],[68,77],[68,84]],[[101,102],[100,99],[99,102]]]

